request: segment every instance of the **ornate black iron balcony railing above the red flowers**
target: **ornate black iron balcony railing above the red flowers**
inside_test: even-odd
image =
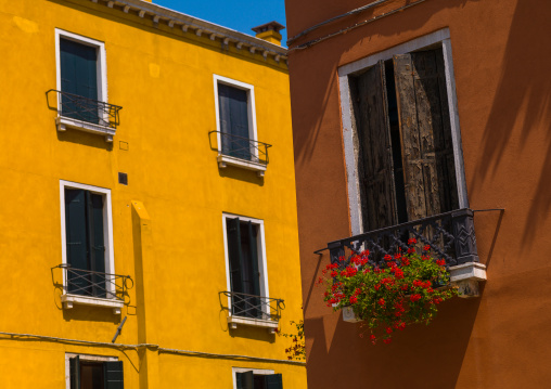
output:
[[[408,249],[408,239],[418,241],[418,251],[431,247],[435,258],[446,260],[447,267],[478,262],[472,209],[458,209],[407,223],[388,226],[328,244],[331,262],[339,263],[346,249],[361,252],[369,249],[370,264],[384,263],[385,255]],[[339,263],[342,264],[342,263]]]

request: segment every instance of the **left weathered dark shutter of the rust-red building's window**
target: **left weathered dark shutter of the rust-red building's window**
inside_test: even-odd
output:
[[[397,224],[384,62],[358,76],[351,98],[360,143],[363,224],[367,230]]]

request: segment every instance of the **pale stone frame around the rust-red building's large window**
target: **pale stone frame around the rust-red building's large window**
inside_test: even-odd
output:
[[[379,61],[392,60],[393,55],[407,54],[424,48],[441,44],[444,64],[446,72],[446,90],[448,94],[448,106],[450,114],[451,139],[453,146],[453,158],[456,164],[456,180],[458,185],[459,207],[469,208],[466,195],[466,181],[463,165],[463,151],[461,146],[461,130],[459,126],[458,101],[456,94],[456,80],[453,77],[453,61],[451,54],[450,31],[443,28],[426,36],[398,44],[390,49],[369,55],[364,59],[343,65],[338,68],[338,86],[341,93],[341,113],[343,122],[343,140],[345,151],[346,174],[348,185],[348,206],[350,212],[351,234],[363,233],[361,198],[358,178],[358,156],[354,146],[353,118],[350,88],[348,77],[366,68],[374,66]]]

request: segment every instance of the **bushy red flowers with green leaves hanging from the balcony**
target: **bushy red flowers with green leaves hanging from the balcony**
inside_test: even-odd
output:
[[[328,285],[328,307],[343,310],[347,322],[363,321],[373,343],[377,338],[390,342],[392,334],[408,325],[430,324],[438,304],[458,295],[446,261],[433,258],[430,246],[415,247],[417,243],[409,239],[406,251],[398,249],[383,261],[370,259],[369,250],[353,251],[348,259],[328,264],[325,280],[318,281]]]

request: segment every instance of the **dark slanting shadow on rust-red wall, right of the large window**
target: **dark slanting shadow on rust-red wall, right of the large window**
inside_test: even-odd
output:
[[[543,10],[546,9],[546,10]],[[536,11],[538,10],[538,11]],[[470,183],[479,190],[496,174],[505,153],[525,148],[533,132],[547,131],[547,151],[539,180],[526,218],[522,241],[531,244],[551,208],[551,76],[549,73],[549,20],[551,8],[538,0],[516,3],[503,57],[503,68],[488,122],[484,129],[482,158]],[[529,41],[527,41],[529,39]],[[511,144],[513,132],[521,131],[521,143]],[[517,148],[513,148],[517,146]],[[537,151],[535,151],[537,152]],[[538,153],[539,155],[539,153]],[[503,174],[503,172],[501,172]],[[531,186],[531,185],[530,185]],[[473,191],[474,192],[474,191]],[[533,193],[526,193],[531,196]]]

